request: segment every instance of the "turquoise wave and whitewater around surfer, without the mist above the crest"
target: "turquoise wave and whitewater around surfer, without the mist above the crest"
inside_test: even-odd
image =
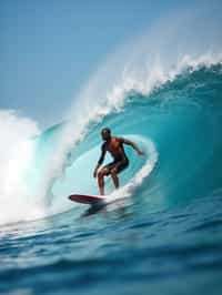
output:
[[[108,202],[133,195],[135,187],[143,187],[140,195],[147,199],[155,195],[155,202],[161,204],[203,196],[211,190],[220,189],[221,75],[221,63],[199,67],[196,70],[189,68],[148,94],[129,91],[121,111],[111,110],[103,119],[100,116],[98,120],[97,116],[93,124],[83,124],[83,133],[73,133],[70,129],[73,122],[58,124],[36,138],[33,135],[39,131],[34,124],[27,134],[22,131],[22,142],[28,143],[29,152],[23,151],[23,166],[19,170],[17,159],[21,159],[21,150],[16,145],[17,159],[12,161],[11,171],[20,179],[20,183],[13,185],[9,194],[1,194],[6,212],[1,215],[1,223],[32,220],[69,210],[72,204],[67,201],[67,195],[78,190],[82,192],[88,187],[85,193],[97,193],[97,183],[90,184],[91,171],[100,153],[100,130],[105,125],[114,134],[137,134],[128,136],[144,146],[150,154],[147,163],[137,166],[134,155],[128,151],[135,166],[129,169],[129,174],[123,173],[127,179],[123,177],[122,184],[125,185],[111,194]],[[14,125],[19,128],[18,121]],[[12,133],[10,130],[8,132]],[[16,134],[20,132],[16,130]],[[64,135],[69,144],[62,150]],[[59,151],[62,151],[62,156]],[[13,159],[11,150],[9,153],[7,157]],[[53,162],[54,157],[59,159]],[[155,163],[158,165],[153,171]],[[47,183],[49,165],[57,166],[57,170],[52,171],[51,167],[50,172],[53,173]],[[87,175],[85,182],[82,175]],[[203,179],[208,181],[203,183]],[[46,183],[47,191],[43,190]],[[107,187],[111,192],[112,183],[108,182]]]

